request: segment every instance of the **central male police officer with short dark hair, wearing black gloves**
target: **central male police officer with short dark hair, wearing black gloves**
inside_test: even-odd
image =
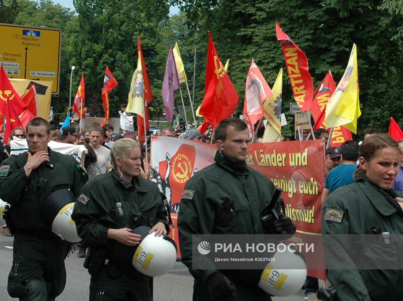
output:
[[[270,300],[256,285],[246,283],[239,270],[192,268],[194,234],[290,234],[291,220],[279,213],[275,224],[263,225],[261,212],[276,191],[273,183],[246,165],[249,131],[238,118],[222,120],[215,129],[215,163],[197,172],[185,185],[178,230],[181,261],[195,278],[193,300]],[[279,208],[276,207],[279,212]]]

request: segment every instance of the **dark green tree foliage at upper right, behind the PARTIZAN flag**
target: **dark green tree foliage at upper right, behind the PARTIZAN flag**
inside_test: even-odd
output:
[[[243,108],[247,70],[254,58],[270,86],[285,67],[275,22],[305,52],[314,89],[332,71],[337,82],[343,75],[353,43],[358,49],[360,102],[359,131],[377,127],[386,131],[389,117],[402,119],[398,109],[403,89],[401,39],[391,40],[401,26],[401,18],[372,1],[351,0],[223,0],[173,1],[192,20],[191,28],[212,31],[221,58],[231,58],[229,76],[239,93],[237,112]],[[194,4],[196,3],[196,4]],[[283,111],[294,102],[287,75],[283,84]],[[291,118],[288,118],[291,121]],[[403,122],[402,122],[403,123]],[[291,132],[290,126],[283,131]]]

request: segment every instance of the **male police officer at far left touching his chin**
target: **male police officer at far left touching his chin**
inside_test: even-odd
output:
[[[50,138],[49,123],[32,119],[27,124],[29,152],[10,156],[0,167],[0,198],[11,205],[7,224],[15,232],[7,290],[21,301],[54,300],[62,293],[69,245],[46,226],[42,205],[54,191],[70,189],[78,195],[85,184],[79,163],[53,152]]]

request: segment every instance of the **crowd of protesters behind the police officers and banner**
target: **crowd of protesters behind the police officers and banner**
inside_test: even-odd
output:
[[[69,126],[60,129],[58,125],[54,124],[54,112],[51,110],[48,119],[48,122],[50,122],[50,125],[52,125],[52,130],[50,131],[50,139],[58,143],[85,146],[87,152],[85,152],[85,154],[83,152],[82,162],[86,169],[89,179],[99,176],[101,174],[106,174],[107,172],[111,172],[113,167],[108,166],[108,162],[110,162],[111,160],[111,148],[113,147],[114,143],[119,139],[123,138],[132,138],[138,140],[137,133],[131,131],[129,132],[123,131],[122,129],[119,129],[119,133],[114,134],[114,127],[108,123],[102,125],[92,125],[91,127],[86,127],[89,128],[89,130],[84,130],[83,122],[81,122],[80,125],[80,119],[76,115],[74,114],[71,115],[70,117],[71,124]],[[88,111],[86,111],[86,116],[89,116]],[[209,131],[207,133],[209,134]],[[211,133],[212,132],[210,132],[210,134]],[[325,129],[318,129],[314,131],[313,134],[316,139],[320,139],[321,141],[323,141],[324,145],[327,144],[329,138],[328,131],[326,131]],[[27,138],[26,131],[25,129],[22,128],[13,129],[9,137],[3,137],[3,135],[4,135],[4,129],[2,130],[0,137],[3,141],[7,141],[7,143],[5,144],[1,143],[2,148],[0,149],[0,155],[1,155],[0,159],[2,161],[5,160],[8,156],[10,156],[11,153],[10,141],[13,141],[15,139]],[[172,126],[160,129],[158,133],[156,133],[156,135],[165,137],[174,137],[179,139],[188,139],[200,143],[213,143],[211,135],[203,135],[197,129],[187,129],[186,125],[182,122],[181,116],[178,114],[178,110],[176,109],[174,109]],[[366,141],[368,137],[372,135],[375,135],[376,138],[370,139],[371,141],[368,142],[370,143],[370,145],[368,143],[363,143],[363,141]],[[335,195],[333,192],[339,189],[340,187],[353,184],[355,183],[355,181],[364,181],[362,180],[363,177],[365,181],[367,180],[367,178],[370,178],[370,176],[368,176],[368,169],[365,169],[366,168],[365,166],[370,166],[368,162],[371,162],[372,156],[374,156],[374,154],[376,154],[378,150],[376,149],[375,146],[375,149],[373,150],[371,156],[367,154],[368,156],[365,157],[365,154],[363,154],[363,149],[360,150],[360,145],[361,148],[364,145],[364,148],[368,149],[373,145],[376,145],[377,143],[379,145],[383,143],[382,145],[384,146],[382,147],[384,147],[385,149],[393,148],[393,152],[396,152],[396,154],[399,153],[399,156],[400,154],[403,153],[403,141],[398,141],[396,144],[393,144],[393,141],[389,141],[387,138],[385,138],[385,136],[386,136],[385,134],[380,133],[377,129],[366,129],[362,133],[361,137],[362,141],[360,141],[359,143],[356,141],[346,141],[341,145],[341,147],[326,148],[325,162],[324,162],[326,170],[326,183],[322,194],[322,203],[327,204],[326,199],[329,199],[329,196],[330,199],[332,199],[332,196],[334,197]],[[152,170],[150,165],[150,139],[151,137],[147,136],[146,141],[144,141],[143,144],[139,145],[140,147],[139,154],[141,156],[141,168],[139,170],[139,175],[145,179],[150,179],[151,176],[150,173]],[[290,140],[293,140],[293,137],[281,138],[281,141],[290,141]],[[262,138],[256,137],[255,141],[253,142],[262,142]],[[400,149],[399,147],[396,147],[396,145],[399,145]],[[389,175],[390,179],[393,179],[393,181],[391,181],[390,183],[391,185],[388,185],[388,187],[385,188],[386,189],[392,188],[393,191],[403,192],[403,163],[400,160],[400,157],[398,163],[399,166],[398,167],[394,166],[394,172],[392,172],[393,174]],[[356,177],[357,168],[361,172],[360,173],[361,177],[358,178]],[[372,168],[375,170],[374,167]],[[394,181],[395,179],[396,181]],[[370,178],[370,183],[371,185],[374,185],[374,187],[377,187],[376,179],[371,180]],[[394,194],[394,196],[398,198],[400,195]],[[399,210],[399,206],[400,208],[402,207],[403,199],[399,198],[396,200],[398,202],[397,210]],[[324,208],[327,208],[326,206]],[[326,220],[326,217],[324,218]],[[333,224],[330,223],[328,227],[329,226],[333,226]],[[328,230],[328,228],[326,228],[326,230]],[[0,232],[5,235],[10,235],[9,232],[7,231],[6,225],[3,226]],[[77,256],[85,257],[86,248],[87,245],[85,245],[85,243],[81,243],[79,245],[79,252],[77,253]],[[331,280],[336,282],[334,283],[335,284],[334,286],[336,286],[336,288],[341,287],[339,286],[339,283],[337,283],[337,277],[339,277],[339,275],[332,274],[331,276]],[[362,285],[365,287],[366,284]],[[326,288],[329,291],[331,289],[334,289],[334,286],[329,281],[326,283]],[[353,288],[351,287],[349,287],[349,289],[353,290]],[[320,300],[318,299],[319,298],[318,291],[320,291],[318,279],[308,276],[305,282],[304,299],[307,301]],[[347,291],[345,295],[347,297],[351,297],[354,295],[354,293]]]

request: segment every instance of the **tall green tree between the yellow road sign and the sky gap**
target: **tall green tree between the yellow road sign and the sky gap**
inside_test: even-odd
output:
[[[159,31],[168,17],[168,4],[140,0],[75,0],[73,3],[79,26],[69,47],[70,64],[77,66],[77,86],[78,77],[82,72],[85,75],[86,102],[94,104],[94,113],[104,115],[100,104],[106,65],[118,82],[110,92],[110,116],[117,116],[120,104],[127,103],[131,77],[137,66],[137,36],[141,38],[152,92],[158,95],[153,83],[160,78],[156,71],[161,62],[156,60],[155,48]]]

